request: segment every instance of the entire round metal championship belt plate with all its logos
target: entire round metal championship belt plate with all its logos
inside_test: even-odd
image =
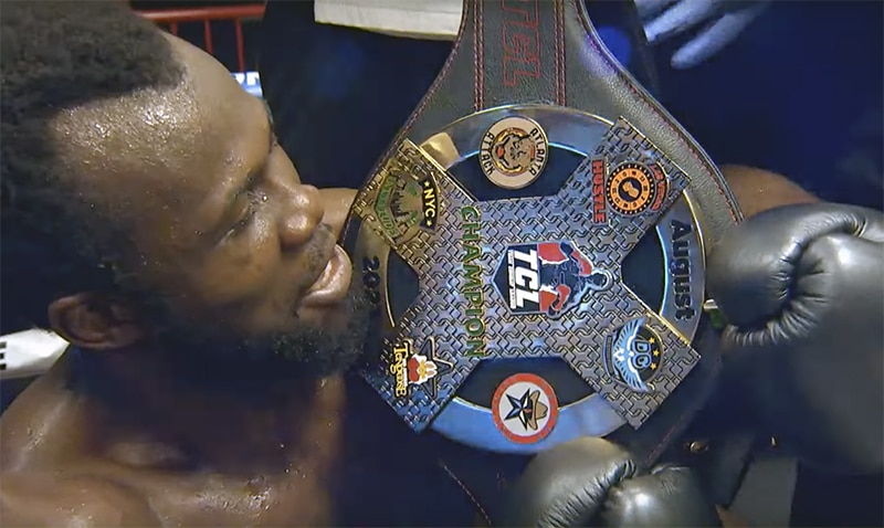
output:
[[[629,118],[545,102],[424,136],[406,128],[345,235],[365,379],[414,431],[496,452],[641,427],[701,359],[688,175]]]

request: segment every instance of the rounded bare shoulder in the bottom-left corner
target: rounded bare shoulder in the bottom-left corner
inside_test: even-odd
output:
[[[0,474],[6,526],[160,526],[145,497],[104,478],[53,473]]]

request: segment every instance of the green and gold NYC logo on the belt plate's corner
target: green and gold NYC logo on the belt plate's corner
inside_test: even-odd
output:
[[[411,240],[420,229],[435,231],[438,203],[439,190],[432,177],[415,180],[408,175],[389,173],[380,183],[373,209],[383,232],[399,244]]]

